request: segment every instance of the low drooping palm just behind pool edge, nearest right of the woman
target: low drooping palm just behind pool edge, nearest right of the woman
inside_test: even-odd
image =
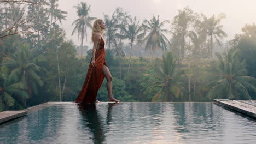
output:
[[[162,57],[161,67],[157,71],[157,81],[154,82],[153,87],[158,87],[160,90],[153,97],[152,101],[161,99],[161,101],[172,101],[174,97],[179,97],[178,80],[181,78],[181,72],[176,73],[176,61],[173,60],[171,52],[167,52],[166,57]]]

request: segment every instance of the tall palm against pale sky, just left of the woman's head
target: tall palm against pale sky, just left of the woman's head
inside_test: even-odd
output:
[[[78,39],[79,39],[79,36],[82,37],[82,42],[81,42],[81,57],[82,57],[84,36],[86,37],[86,41],[87,41],[87,27],[92,28],[91,22],[96,18],[89,16],[90,5],[88,7],[86,3],[81,2],[80,4],[74,7],[77,9],[78,19],[72,23],[72,26],[75,25],[75,27],[71,35],[73,35],[74,32],[77,31]]]

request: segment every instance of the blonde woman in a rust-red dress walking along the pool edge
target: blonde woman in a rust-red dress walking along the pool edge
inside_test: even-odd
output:
[[[114,101],[116,103],[120,101],[113,98],[112,76],[105,62],[105,42],[102,37],[105,26],[103,20],[97,19],[92,27],[91,39],[94,43],[94,47],[92,48],[92,58],[83,88],[75,99],[75,103],[86,104],[100,102],[96,100],[96,96],[104,77],[107,79],[108,101]]]

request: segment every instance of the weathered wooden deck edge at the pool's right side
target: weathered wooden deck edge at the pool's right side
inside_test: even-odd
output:
[[[256,119],[256,106],[243,103],[240,100],[214,99],[214,104],[228,107],[231,110]]]

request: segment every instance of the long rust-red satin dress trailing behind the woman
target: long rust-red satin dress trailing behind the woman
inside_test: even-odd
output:
[[[98,89],[100,89],[104,75],[102,74],[103,65],[106,65],[105,62],[105,43],[101,37],[100,44],[95,53],[95,64],[92,66],[91,62],[85,77],[84,85],[75,99],[74,103],[86,104],[94,103],[96,101]]]

